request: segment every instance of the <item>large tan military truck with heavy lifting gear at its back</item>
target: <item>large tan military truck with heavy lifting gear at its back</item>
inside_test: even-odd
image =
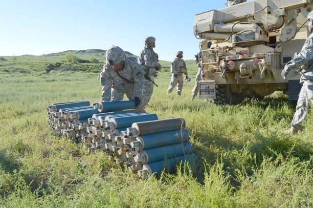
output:
[[[300,75],[281,71],[310,35],[312,0],[250,0],[195,16],[201,64],[199,97],[215,104],[263,99],[275,91],[297,100]]]

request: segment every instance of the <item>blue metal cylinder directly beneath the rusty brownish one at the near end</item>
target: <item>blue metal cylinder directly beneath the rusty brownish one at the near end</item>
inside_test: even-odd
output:
[[[148,134],[136,137],[136,141],[131,143],[133,151],[151,149],[159,146],[173,145],[189,141],[189,131],[187,129],[167,131],[156,134]]]

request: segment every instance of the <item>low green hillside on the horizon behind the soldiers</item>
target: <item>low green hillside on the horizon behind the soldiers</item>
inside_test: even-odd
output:
[[[78,61],[68,62],[66,54],[70,52]],[[20,75],[38,75],[65,71],[81,71],[99,73],[103,67],[105,50],[67,50],[59,53],[45,54],[42,56],[22,55],[22,56],[2,56],[0,57],[0,75],[6,77]],[[134,54],[127,52],[127,56]],[[164,71],[170,71],[170,62],[159,61]],[[186,61],[188,69],[197,73],[197,65],[193,60]]]

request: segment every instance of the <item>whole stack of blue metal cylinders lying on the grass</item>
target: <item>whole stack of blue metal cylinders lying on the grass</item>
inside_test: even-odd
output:
[[[177,162],[195,164],[183,118],[158,120],[154,113],[134,110],[134,101],[53,103],[47,123],[55,136],[83,144],[89,152],[105,151],[140,177],[171,170]]]

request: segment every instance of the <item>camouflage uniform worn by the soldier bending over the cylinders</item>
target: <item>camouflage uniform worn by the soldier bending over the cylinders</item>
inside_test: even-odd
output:
[[[120,78],[110,64],[105,64],[102,70],[103,82],[103,100],[109,99],[109,91],[111,91],[110,101],[121,101],[124,98],[124,93],[129,100],[134,100],[134,97],[141,99],[142,86],[144,84],[144,72],[134,57],[127,57],[125,67],[118,71],[125,79]],[[112,89],[112,90],[110,90]]]

